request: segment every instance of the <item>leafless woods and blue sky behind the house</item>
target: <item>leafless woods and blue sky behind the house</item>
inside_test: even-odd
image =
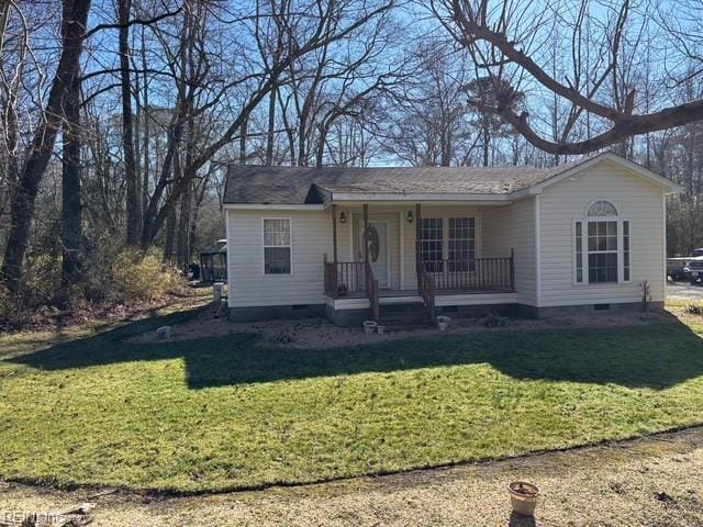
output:
[[[684,186],[669,251],[689,254],[702,8],[0,0],[0,312],[150,294],[134,266],[182,269],[224,235],[227,162],[551,166],[611,148]]]

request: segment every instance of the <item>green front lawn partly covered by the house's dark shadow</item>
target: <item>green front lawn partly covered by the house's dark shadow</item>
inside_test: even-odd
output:
[[[178,492],[516,456],[703,424],[703,325],[322,351],[252,335],[0,338],[0,479]]]

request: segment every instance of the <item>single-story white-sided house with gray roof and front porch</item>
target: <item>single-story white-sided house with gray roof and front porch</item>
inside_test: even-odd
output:
[[[231,165],[234,321],[639,309],[666,294],[666,195],[612,153],[533,167]]]

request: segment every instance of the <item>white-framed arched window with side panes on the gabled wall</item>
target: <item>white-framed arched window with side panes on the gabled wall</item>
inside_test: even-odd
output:
[[[628,282],[629,222],[618,218],[615,205],[595,201],[574,225],[574,282]]]

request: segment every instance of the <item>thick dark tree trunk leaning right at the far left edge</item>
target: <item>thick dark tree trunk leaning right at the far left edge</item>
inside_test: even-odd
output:
[[[10,232],[0,269],[0,280],[12,293],[16,293],[20,288],[22,264],[29,245],[36,195],[54,152],[56,135],[62,125],[66,94],[70,89],[72,77],[78,72],[89,11],[90,0],[64,0],[62,55],[46,106],[34,132],[24,169],[11,198]]]

